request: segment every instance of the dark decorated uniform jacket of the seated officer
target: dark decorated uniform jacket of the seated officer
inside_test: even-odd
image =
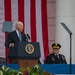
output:
[[[65,56],[59,54],[59,58],[54,53],[46,57],[45,64],[67,64]]]

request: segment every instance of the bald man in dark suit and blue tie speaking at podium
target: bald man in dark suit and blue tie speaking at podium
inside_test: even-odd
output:
[[[16,30],[9,33],[8,38],[5,42],[6,47],[14,47],[15,43],[17,42],[27,42],[27,38],[25,34],[22,33],[23,31],[23,23],[17,22],[16,23]]]

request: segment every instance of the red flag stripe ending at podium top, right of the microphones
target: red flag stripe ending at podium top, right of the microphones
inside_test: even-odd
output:
[[[35,0],[30,0],[30,23],[31,23],[31,40],[36,42],[36,12],[35,12]]]

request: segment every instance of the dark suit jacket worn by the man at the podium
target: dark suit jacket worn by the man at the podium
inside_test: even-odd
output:
[[[27,39],[26,39],[25,34],[21,33],[21,36],[22,36],[22,41],[26,42]],[[15,44],[15,43],[17,43],[19,41],[20,40],[19,40],[18,35],[16,33],[16,30],[15,30],[15,31],[9,33],[8,38],[7,38],[6,42],[5,42],[5,46],[9,47],[10,43],[14,43]]]

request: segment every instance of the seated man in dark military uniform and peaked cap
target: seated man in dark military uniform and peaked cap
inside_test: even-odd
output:
[[[53,53],[46,57],[45,63],[46,64],[67,64],[65,56],[59,54],[59,49],[61,45],[58,43],[52,44]]]

